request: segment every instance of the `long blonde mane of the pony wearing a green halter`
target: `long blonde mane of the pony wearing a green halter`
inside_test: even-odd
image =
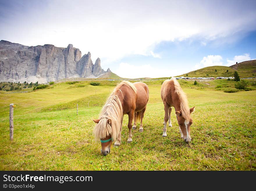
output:
[[[99,123],[95,125],[94,134],[96,140],[103,139],[109,134],[114,140],[117,139],[123,117],[122,103],[117,96],[117,91],[119,90],[122,93],[120,88],[124,84],[128,85],[135,93],[137,92],[136,87],[129,81],[122,81],[115,87],[100,112]],[[109,124],[109,119],[111,119],[111,125]]]

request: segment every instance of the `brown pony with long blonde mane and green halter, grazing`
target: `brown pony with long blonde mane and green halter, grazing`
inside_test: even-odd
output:
[[[132,141],[131,127],[134,114],[134,126],[136,128],[136,119],[141,118],[139,131],[143,131],[142,119],[149,99],[149,89],[143,82],[130,83],[122,81],[119,83],[105,105],[103,106],[99,119],[93,119],[95,123],[95,139],[101,142],[101,153],[107,155],[110,152],[110,145],[116,140],[115,146],[121,144],[121,131],[123,115],[128,114],[129,138],[127,142]]]

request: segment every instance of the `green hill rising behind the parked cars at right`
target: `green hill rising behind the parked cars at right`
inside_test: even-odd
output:
[[[230,67],[227,66],[209,66],[201,68],[179,76],[184,77],[233,77],[234,71],[237,71],[240,78],[256,76],[256,60],[244,61]],[[176,76],[176,77],[179,77]]]

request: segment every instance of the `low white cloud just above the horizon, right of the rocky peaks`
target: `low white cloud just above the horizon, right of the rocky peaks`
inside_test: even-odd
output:
[[[128,63],[120,63],[118,69],[113,70],[115,74],[122,78],[161,78],[175,76],[177,70],[166,68],[155,68],[151,65],[130,65]]]

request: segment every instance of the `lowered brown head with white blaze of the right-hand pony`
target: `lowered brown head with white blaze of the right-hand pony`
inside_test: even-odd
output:
[[[176,111],[176,117],[179,124],[179,132],[181,134],[181,138],[186,142],[190,142],[190,126],[193,123],[192,118],[190,116],[193,113],[195,107],[189,109],[189,114],[182,113],[181,111]]]

